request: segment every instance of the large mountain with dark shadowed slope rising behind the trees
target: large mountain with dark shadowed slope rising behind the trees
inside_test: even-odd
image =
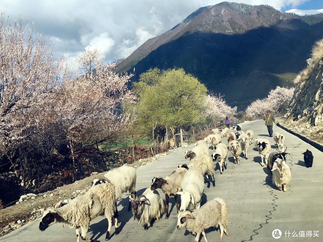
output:
[[[281,13],[268,5],[223,2],[205,6],[164,34],[147,40],[116,67],[133,81],[150,68],[182,67],[226,103],[245,110],[306,66],[323,36],[323,16]]]

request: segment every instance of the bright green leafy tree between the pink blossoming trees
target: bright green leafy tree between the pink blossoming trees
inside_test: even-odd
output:
[[[182,68],[150,69],[140,75],[133,91],[138,97],[135,104],[137,120],[141,125],[151,127],[152,138],[155,138],[158,126],[165,127],[166,132],[170,128],[175,138],[175,128],[204,120],[201,110],[207,89]]]

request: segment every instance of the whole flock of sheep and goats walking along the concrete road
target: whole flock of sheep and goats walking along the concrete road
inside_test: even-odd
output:
[[[202,233],[205,241],[207,238],[204,230],[210,227],[220,227],[220,242],[223,233],[229,236],[228,209],[222,198],[214,198],[201,206],[201,197],[204,192],[204,176],[207,179],[207,188],[210,188],[210,179],[214,182],[214,162],[218,162],[220,173],[226,169],[228,158],[227,145],[222,143],[222,138],[226,137],[229,144],[229,151],[234,157],[234,163],[239,165],[239,157],[243,152],[243,158],[247,158],[247,150],[253,143],[254,132],[252,130],[242,131],[241,127],[234,127],[234,132],[229,132],[228,128],[223,130],[213,129],[213,134],[199,140],[191,150],[185,151],[185,159],[190,159],[190,163],[179,164],[175,171],[166,176],[154,177],[151,185],[139,197],[136,194],[136,170],[129,166],[122,166],[105,173],[101,180],[95,179],[92,187],[84,195],[73,199],[70,203],[60,208],[47,209],[39,229],[44,231],[48,226],[57,222],[67,223],[70,227],[76,228],[77,242],[90,240],[86,237],[89,223],[95,217],[101,215],[108,219],[108,229],[106,240],[110,237],[112,220],[115,225],[115,233],[118,229],[118,210],[116,201],[121,198],[121,194],[129,192],[129,206],[135,220],[144,229],[149,229],[154,220],[159,220],[166,213],[169,217],[169,198],[174,197],[177,208],[177,229],[186,227],[186,230],[196,234],[195,241],[199,241]],[[277,149],[270,152],[270,142],[266,138],[255,138],[255,147],[261,156],[261,164],[267,165],[272,173],[272,182],[280,191],[287,191],[287,185],[291,180],[291,172],[286,164],[287,146],[284,144],[285,137],[278,132],[274,133],[274,141]],[[209,147],[212,147],[213,154],[210,156]],[[303,153],[307,167],[313,163],[313,155],[309,150]],[[165,194],[166,203],[162,200],[157,189]],[[181,204],[178,203],[178,195],[181,196]]]

